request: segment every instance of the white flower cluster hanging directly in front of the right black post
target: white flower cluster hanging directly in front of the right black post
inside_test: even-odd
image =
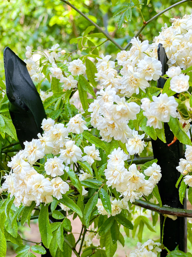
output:
[[[153,102],[148,98],[141,99],[141,108],[143,115],[147,117],[147,126],[155,129],[162,128],[162,122],[169,122],[170,115],[173,118],[177,117],[177,106],[174,96],[167,96],[166,93],[160,94],[159,97],[152,96]]]

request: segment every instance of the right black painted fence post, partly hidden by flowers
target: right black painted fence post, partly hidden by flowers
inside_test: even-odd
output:
[[[162,44],[158,45],[158,60],[162,64],[162,74],[164,75],[168,69],[167,56]],[[160,78],[158,80],[158,87],[163,88],[166,80]],[[166,142],[163,143],[160,139],[152,139],[152,148],[154,158],[158,159],[158,165],[161,167],[162,178],[158,183],[159,193],[161,196],[162,204],[169,205],[170,207],[184,208],[186,209],[186,198],[183,200],[183,205],[179,201],[179,192],[176,188],[176,182],[180,176],[180,173],[176,170],[176,166],[179,164],[179,159],[184,155],[184,146],[176,140],[171,146],[167,144],[173,140],[173,133],[167,123],[164,123]],[[176,220],[166,218],[164,222],[164,216],[160,214],[160,227],[161,238],[163,232],[163,244],[169,250],[174,250],[179,245],[179,250],[187,251],[187,218],[177,217]],[[161,257],[167,255],[167,251],[161,252]]]

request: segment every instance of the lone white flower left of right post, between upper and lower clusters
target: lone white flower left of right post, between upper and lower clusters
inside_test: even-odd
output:
[[[134,155],[136,153],[140,154],[145,145],[145,142],[142,140],[145,136],[143,135],[138,135],[138,131],[133,130],[132,131],[133,138],[128,139],[128,143],[126,144],[126,148],[129,152],[130,155]]]

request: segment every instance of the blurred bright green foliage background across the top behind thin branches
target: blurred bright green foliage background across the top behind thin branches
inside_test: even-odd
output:
[[[124,47],[143,24],[138,12],[139,7],[141,7],[144,19],[149,20],[158,12],[179,1],[151,0],[148,1],[148,5],[147,0],[140,0],[143,5],[137,5],[137,2],[139,1],[70,1]],[[126,14],[122,28],[118,29],[118,21],[123,16],[123,12],[116,16],[113,14],[122,8],[123,3],[131,3],[138,8],[130,8],[132,17],[127,17]],[[3,49],[6,46],[9,46],[23,59],[26,45],[33,46],[34,49],[46,49],[59,43],[61,48],[73,51],[76,49],[76,45],[70,45],[70,39],[82,36],[85,29],[91,25],[70,6],[59,0],[11,0],[10,2],[1,1],[0,5],[0,75],[2,78],[4,78]],[[182,17],[184,14],[190,13],[192,13],[191,2],[165,12],[142,31],[141,38],[152,42],[153,37],[158,35],[164,23],[170,25],[170,18]],[[95,28],[93,33],[97,32],[98,30]],[[92,40],[98,41],[97,44],[101,41],[101,39]],[[106,54],[116,54],[119,51],[111,42],[105,43],[101,47],[102,49]]]

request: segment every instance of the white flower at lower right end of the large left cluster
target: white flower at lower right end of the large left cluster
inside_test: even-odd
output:
[[[55,177],[50,182],[53,187],[53,196],[56,197],[57,200],[62,199],[62,194],[69,191],[69,185],[60,177]]]

